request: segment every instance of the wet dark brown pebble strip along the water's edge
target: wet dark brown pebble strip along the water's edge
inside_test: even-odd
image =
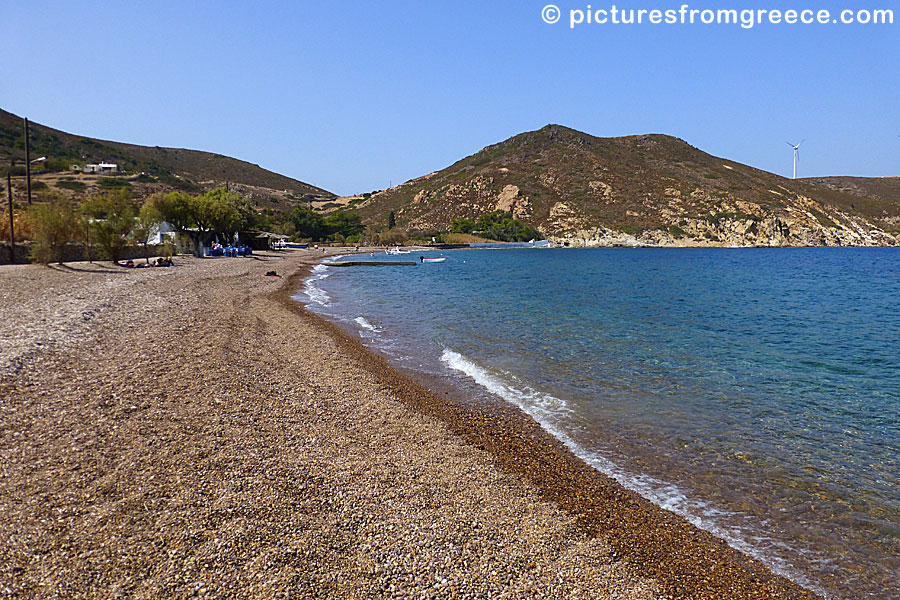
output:
[[[293,292],[280,292],[278,300],[293,303],[303,318],[318,321],[402,401],[437,416],[454,433],[487,450],[502,468],[529,480],[542,497],[575,516],[586,534],[604,537],[617,557],[657,581],[671,597],[820,598],[600,473],[518,407],[462,405],[447,399],[446,393],[439,397],[336,323],[307,310],[296,295],[308,275],[292,275],[285,288]]]

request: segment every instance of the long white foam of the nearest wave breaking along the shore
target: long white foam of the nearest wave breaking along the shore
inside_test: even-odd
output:
[[[778,575],[826,596],[825,592],[817,588],[812,581],[791,568],[787,561],[771,556],[760,548],[761,545],[770,547],[778,545],[775,540],[765,536],[753,535],[740,527],[723,522],[723,519],[726,518],[735,520],[735,517],[739,515],[719,510],[708,503],[689,498],[678,486],[671,483],[649,475],[630,473],[605,456],[579,445],[566,432],[566,417],[572,414],[573,411],[565,400],[549,394],[543,394],[527,385],[522,385],[512,375],[499,374],[485,369],[462,354],[448,348],[444,348],[441,361],[451,369],[471,377],[489,392],[521,408],[534,418],[541,427],[565,444],[576,456],[604,475],[615,479],[623,487],[637,492],[657,506],[685,518],[695,527],[704,529],[725,540],[732,548],[765,563]],[[515,383],[510,383],[510,381]],[[751,539],[757,543],[754,544]]]

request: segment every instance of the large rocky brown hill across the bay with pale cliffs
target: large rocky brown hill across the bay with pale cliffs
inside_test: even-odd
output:
[[[665,135],[598,138],[559,125],[488,146],[357,210],[410,231],[496,209],[575,246],[900,243],[900,202],[793,181]]]

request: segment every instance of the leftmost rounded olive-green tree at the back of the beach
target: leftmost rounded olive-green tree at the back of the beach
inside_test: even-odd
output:
[[[40,263],[63,262],[66,246],[81,238],[81,219],[75,204],[59,192],[44,192],[29,207],[25,220],[35,245],[32,258]]]

